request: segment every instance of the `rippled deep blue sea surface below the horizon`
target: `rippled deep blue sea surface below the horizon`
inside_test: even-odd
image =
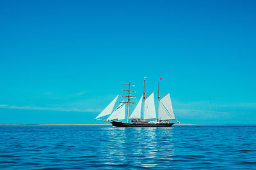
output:
[[[0,169],[256,169],[256,126],[0,126]]]

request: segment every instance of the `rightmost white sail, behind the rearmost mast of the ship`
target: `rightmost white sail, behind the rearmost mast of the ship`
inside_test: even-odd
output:
[[[159,101],[158,120],[170,119],[175,119],[175,116],[172,109],[170,93],[168,93]]]

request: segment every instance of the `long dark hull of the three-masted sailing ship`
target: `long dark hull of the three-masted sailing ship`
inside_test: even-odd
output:
[[[111,124],[116,127],[171,127],[174,123],[164,123],[164,124],[127,124],[123,122],[111,121]]]

